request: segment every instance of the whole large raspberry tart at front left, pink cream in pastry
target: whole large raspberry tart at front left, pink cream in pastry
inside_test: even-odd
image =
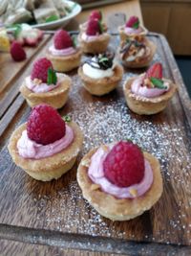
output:
[[[33,178],[49,181],[68,172],[82,147],[83,135],[50,105],[36,105],[27,123],[16,128],[8,149],[13,162]]]

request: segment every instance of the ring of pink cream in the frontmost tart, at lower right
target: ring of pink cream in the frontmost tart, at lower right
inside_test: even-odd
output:
[[[114,145],[110,145],[108,147],[109,151],[112,150]],[[105,176],[103,172],[103,162],[109,151],[104,151],[102,147],[100,147],[95,154],[91,158],[91,164],[88,169],[89,177],[96,184],[100,185],[102,191],[113,195],[117,198],[138,198],[145,194],[151,187],[153,183],[153,171],[149,164],[149,162],[145,159],[145,172],[144,177],[138,184],[129,186],[127,188],[120,188],[111,183]],[[133,196],[131,194],[132,190],[137,191],[137,196]]]

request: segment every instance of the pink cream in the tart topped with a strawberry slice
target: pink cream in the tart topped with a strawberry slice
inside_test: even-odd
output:
[[[147,86],[144,86],[144,74],[139,76],[138,79],[132,82],[131,85],[131,91],[135,93],[136,95],[143,96],[146,98],[155,98],[159,95],[162,95],[164,92],[168,91],[169,84],[168,82],[164,82],[164,85],[166,85],[166,89],[159,89],[159,88],[148,88]]]

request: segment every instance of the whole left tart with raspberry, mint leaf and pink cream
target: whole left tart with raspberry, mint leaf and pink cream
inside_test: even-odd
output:
[[[68,76],[54,72],[49,59],[39,58],[33,64],[31,76],[21,85],[20,92],[30,106],[44,103],[60,108],[67,102],[71,83]]]

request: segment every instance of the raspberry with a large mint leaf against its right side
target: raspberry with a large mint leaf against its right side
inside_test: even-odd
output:
[[[47,82],[49,68],[53,69],[52,62],[47,58],[39,58],[33,63],[31,79]]]

